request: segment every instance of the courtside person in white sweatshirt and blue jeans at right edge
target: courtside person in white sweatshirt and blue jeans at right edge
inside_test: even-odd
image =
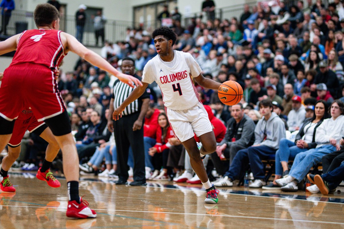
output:
[[[307,175],[309,170],[321,162],[321,158],[331,152],[340,150],[339,140],[344,134],[344,104],[340,100],[332,102],[331,118],[325,119],[315,134],[316,148],[297,154],[286,178],[276,180],[285,192],[298,191],[297,184]]]

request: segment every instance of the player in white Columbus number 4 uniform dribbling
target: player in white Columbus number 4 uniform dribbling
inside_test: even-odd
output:
[[[139,98],[148,84],[156,81],[161,89],[165,112],[175,136],[189,153],[193,170],[201,179],[207,191],[205,203],[216,204],[218,191],[209,182],[202,159],[205,154],[216,150],[216,140],[212,125],[191,76],[204,88],[218,90],[221,83],[204,78],[202,69],[189,53],[173,50],[176,34],[168,27],[161,27],[152,34],[158,55],[148,61],[143,69],[143,87],[136,87],[128,98],[114,111],[117,120],[130,103]],[[194,133],[200,138],[202,147],[198,149]],[[201,157],[200,157],[201,153]]]

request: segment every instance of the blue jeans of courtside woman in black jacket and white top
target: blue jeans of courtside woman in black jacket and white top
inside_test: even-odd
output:
[[[283,168],[281,161],[286,161],[288,163],[289,159],[294,159],[298,153],[307,151],[308,149],[301,149],[295,145],[295,142],[289,141],[286,138],[282,138],[280,141],[280,148],[276,151],[276,167],[275,174],[282,175]]]

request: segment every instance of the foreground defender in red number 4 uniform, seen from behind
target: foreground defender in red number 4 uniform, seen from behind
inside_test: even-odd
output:
[[[94,218],[96,212],[79,197],[78,155],[54,74],[63,57],[72,51],[132,87],[133,82],[136,85],[142,83],[118,72],[72,35],[58,31],[59,13],[53,5],[37,5],[34,21],[38,30],[24,31],[0,42],[0,55],[17,50],[12,64],[4,71],[0,87],[0,149],[9,142],[19,113],[25,107],[31,107],[37,121],[44,120],[49,126],[62,150],[69,199],[66,215]]]

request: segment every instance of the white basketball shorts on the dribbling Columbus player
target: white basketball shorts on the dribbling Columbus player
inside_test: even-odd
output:
[[[165,112],[174,134],[181,142],[193,138],[194,133],[199,137],[213,131],[208,113],[201,102],[187,110],[171,110],[165,107]]]

